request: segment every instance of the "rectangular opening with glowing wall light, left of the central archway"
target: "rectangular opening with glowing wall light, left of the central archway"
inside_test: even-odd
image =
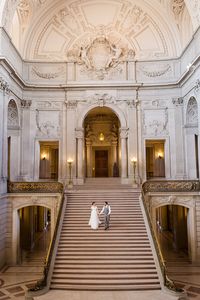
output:
[[[40,142],[40,179],[58,179],[58,141]]]

